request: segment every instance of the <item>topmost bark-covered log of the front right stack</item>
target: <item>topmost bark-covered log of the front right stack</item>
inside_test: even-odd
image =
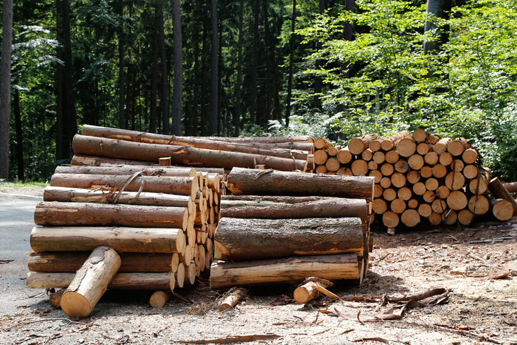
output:
[[[374,177],[233,168],[227,188],[235,195],[318,195],[372,200]]]

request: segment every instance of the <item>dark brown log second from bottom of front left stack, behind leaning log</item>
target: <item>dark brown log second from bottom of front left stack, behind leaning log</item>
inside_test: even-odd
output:
[[[30,253],[28,268],[33,272],[75,272],[83,266],[90,252]],[[176,272],[177,253],[119,253],[119,272]]]

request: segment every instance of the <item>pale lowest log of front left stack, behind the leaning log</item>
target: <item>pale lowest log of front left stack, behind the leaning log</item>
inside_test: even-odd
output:
[[[29,272],[28,288],[68,288],[75,273]],[[174,273],[117,273],[108,289],[114,290],[173,290]]]

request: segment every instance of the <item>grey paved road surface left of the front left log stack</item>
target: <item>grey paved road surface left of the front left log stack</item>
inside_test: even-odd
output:
[[[38,308],[48,299],[31,298],[41,290],[26,288],[25,280],[34,207],[39,201],[41,197],[0,195],[0,317],[20,313],[18,306]]]

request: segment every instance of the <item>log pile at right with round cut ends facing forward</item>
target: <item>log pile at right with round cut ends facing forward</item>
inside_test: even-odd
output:
[[[414,227],[424,219],[469,225],[490,210],[503,221],[517,214],[514,199],[498,179],[490,180],[478,151],[462,137],[403,130],[353,138],[345,148],[318,138],[314,147],[316,173],[374,177],[372,208],[387,228]]]

